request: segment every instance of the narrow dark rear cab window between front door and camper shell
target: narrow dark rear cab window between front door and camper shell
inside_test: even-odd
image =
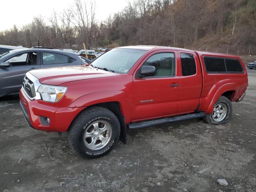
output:
[[[180,53],[182,76],[196,74],[196,62],[193,54]]]

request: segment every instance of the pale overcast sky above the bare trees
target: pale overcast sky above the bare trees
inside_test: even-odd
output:
[[[72,6],[73,2],[73,0],[1,0],[0,31],[10,29],[14,24],[22,27],[38,15],[48,22],[47,18],[50,18],[53,10],[57,13],[62,12]],[[109,14],[122,10],[128,0],[95,0],[95,2],[96,19],[105,20]]]

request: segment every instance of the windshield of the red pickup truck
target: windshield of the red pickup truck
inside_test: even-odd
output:
[[[93,67],[112,70],[116,73],[127,74],[145,50],[116,48],[112,49],[92,62]]]

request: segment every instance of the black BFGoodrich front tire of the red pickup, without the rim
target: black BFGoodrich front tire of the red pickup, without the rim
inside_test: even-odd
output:
[[[112,135],[108,144],[100,150],[90,150],[84,144],[84,132],[90,123],[104,120],[112,127]],[[118,142],[120,122],[110,110],[103,107],[86,108],[73,120],[68,130],[68,141],[71,149],[82,158],[98,158],[108,154]]]

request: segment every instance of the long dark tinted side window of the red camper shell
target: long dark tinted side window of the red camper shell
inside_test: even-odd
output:
[[[209,73],[236,73],[244,71],[237,59],[204,57],[204,64]]]

